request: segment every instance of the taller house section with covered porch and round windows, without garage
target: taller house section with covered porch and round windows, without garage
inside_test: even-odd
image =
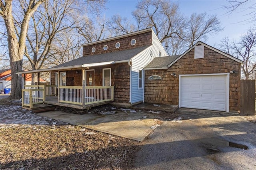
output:
[[[50,94],[52,89],[48,89],[46,96],[58,98],[45,99],[44,103],[79,109],[106,101],[130,106],[144,101],[143,68],[155,57],[166,55],[157,36],[148,28],[84,44],[83,57],[50,69],[18,74],[51,72],[50,84],[58,88],[56,94]],[[29,99],[26,102],[28,105]]]

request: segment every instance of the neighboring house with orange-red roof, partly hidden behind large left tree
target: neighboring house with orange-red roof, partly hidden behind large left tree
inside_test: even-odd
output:
[[[25,80],[26,80],[26,85],[31,85],[32,74],[27,74]],[[44,79],[40,79],[40,82],[46,83],[46,81]],[[11,89],[11,88],[12,88],[11,69],[0,70],[0,90]]]

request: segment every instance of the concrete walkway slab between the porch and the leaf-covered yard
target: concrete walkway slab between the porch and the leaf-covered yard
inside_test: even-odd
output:
[[[149,111],[134,111],[130,109],[114,111],[115,113],[104,113],[114,113],[111,115],[93,113],[78,115],[62,111],[49,111],[38,113],[38,115],[138,141],[144,140],[156,128],[156,117]]]

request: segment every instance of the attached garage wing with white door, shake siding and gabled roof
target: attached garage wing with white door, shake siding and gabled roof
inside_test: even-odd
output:
[[[145,102],[238,111],[241,63],[202,42],[182,55],[155,58],[144,69]]]

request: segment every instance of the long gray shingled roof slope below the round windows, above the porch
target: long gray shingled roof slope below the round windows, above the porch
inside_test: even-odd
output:
[[[89,55],[85,57],[80,57],[78,59],[74,59],[72,61],[68,61],[66,63],[57,65],[53,68],[59,67],[68,67],[68,66],[75,66],[75,65],[83,65],[83,64],[92,64],[92,63],[103,63],[109,61],[125,61],[129,60],[144,49],[149,46],[138,47],[134,49],[127,49],[123,51],[116,51],[111,53],[104,53],[104,54],[97,54],[97,55]]]

